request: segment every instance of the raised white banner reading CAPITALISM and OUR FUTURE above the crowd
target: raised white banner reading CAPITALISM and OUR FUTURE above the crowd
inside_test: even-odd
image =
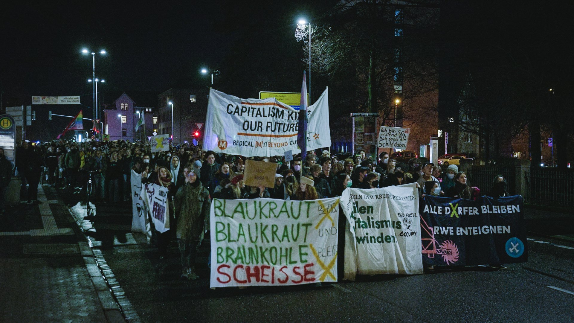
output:
[[[307,107],[307,149],[331,147],[329,95],[325,89]],[[211,90],[205,120],[205,150],[242,156],[282,156],[297,145],[299,111],[274,98],[240,99]]]

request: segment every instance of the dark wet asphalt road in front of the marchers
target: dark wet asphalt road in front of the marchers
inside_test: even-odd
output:
[[[574,239],[568,240],[574,227],[564,225],[574,216],[567,214],[527,209],[529,261],[509,264],[506,271],[466,267],[358,276],[321,287],[211,290],[208,245],[197,259],[203,263],[197,267],[200,279],[185,282],[175,244],[160,260],[142,234],[129,233],[130,203],[96,207],[100,218],[94,228],[87,221],[82,225],[142,322],[574,322]],[[74,210],[80,218],[81,208]],[[541,222],[550,225],[541,230]],[[561,239],[551,237],[554,231]]]

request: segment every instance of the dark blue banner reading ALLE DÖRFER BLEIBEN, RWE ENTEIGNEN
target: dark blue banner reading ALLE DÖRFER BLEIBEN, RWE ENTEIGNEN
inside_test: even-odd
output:
[[[421,207],[422,263],[475,266],[528,260],[521,196],[451,199],[425,195]]]

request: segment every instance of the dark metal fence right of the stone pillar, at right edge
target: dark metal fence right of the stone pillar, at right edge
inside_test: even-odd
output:
[[[574,171],[552,168],[526,172],[527,203],[548,206],[574,206]]]

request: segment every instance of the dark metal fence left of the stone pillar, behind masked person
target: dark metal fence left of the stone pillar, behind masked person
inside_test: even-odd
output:
[[[472,166],[468,176],[471,186],[480,189],[481,195],[488,195],[492,188],[494,176],[502,175],[506,179],[506,190],[510,195],[516,193],[516,171],[514,167],[500,166]]]

